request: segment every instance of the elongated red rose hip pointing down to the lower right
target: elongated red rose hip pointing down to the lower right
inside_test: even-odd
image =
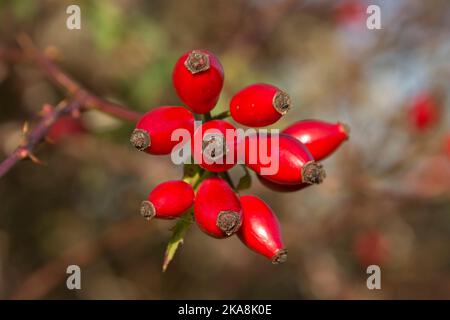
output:
[[[238,232],[242,242],[277,264],[287,259],[287,250],[281,239],[280,223],[270,207],[260,198],[243,196],[242,226]]]

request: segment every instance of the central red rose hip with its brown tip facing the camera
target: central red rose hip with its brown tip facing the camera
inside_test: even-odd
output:
[[[227,131],[228,133],[233,133],[232,137],[230,139],[226,139],[227,137]],[[203,140],[204,138],[207,139],[209,134],[219,135],[222,136],[225,140],[225,145],[221,144],[224,148],[226,148],[224,151],[228,150],[226,153],[232,153],[232,157],[228,156],[230,160],[232,160],[232,163],[226,163],[227,162],[227,155],[224,153],[222,157],[219,159],[214,160],[210,159],[210,163],[206,162],[206,157],[204,154],[204,147],[206,147],[206,141]],[[196,145],[199,145],[199,147],[196,148]],[[218,148],[222,149],[222,148]],[[206,149],[207,150],[207,149]],[[206,151],[205,150],[205,151]],[[211,120],[208,122],[203,123],[200,127],[198,127],[195,130],[194,133],[194,139],[191,140],[191,151],[194,155],[194,160],[196,163],[200,165],[205,170],[211,171],[211,172],[223,172],[226,170],[231,169],[237,162],[237,137],[236,137],[236,128],[229,122],[224,120]],[[213,161],[214,160],[214,161]],[[222,163],[218,163],[222,162]]]

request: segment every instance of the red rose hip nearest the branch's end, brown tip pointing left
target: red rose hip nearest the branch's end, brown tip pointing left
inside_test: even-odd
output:
[[[150,154],[169,154],[178,141],[172,141],[175,129],[194,132],[194,116],[183,107],[158,107],[142,116],[131,134],[131,144]]]

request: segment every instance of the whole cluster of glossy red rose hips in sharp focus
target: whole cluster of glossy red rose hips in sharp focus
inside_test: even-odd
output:
[[[175,65],[173,84],[184,104],[192,112],[204,115],[202,125],[195,128],[194,114],[178,106],[154,108],[138,121],[130,141],[138,150],[149,154],[170,154],[177,144],[171,139],[176,129],[187,130],[191,141],[200,138],[200,151],[196,151],[198,148],[194,148],[193,143],[189,147],[201,172],[206,174],[199,183],[191,184],[185,179],[159,184],[142,202],[140,212],[147,219],[175,219],[193,206],[197,225],[208,235],[226,238],[236,233],[250,249],[273,263],[283,262],[287,258],[287,250],[276,215],[260,198],[238,195],[230,180],[223,178],[238,157],[234,155],[232,163],[224,159],[230,150],[237,150],[237,145],[243,144],[244,164],[256,172],[262,183],[274,190],[299,190],[322,182],[325,171],[317,161],[330,155],[348,138],[348,129],[340,123],[318,120],[292,124],[277,135],[279,169],[269,175],[264,174],[267,164],[258,156],[250,161],[251,152],[254,152],[250,146],[254,142],[259,145],[261,140],[270,145],[274,136],[255,131],[241,140],[226,139],[226,131],[234,132],[236,128],[225,120],[211,118],[209,114],[219,99],[223,81],[222,66],[211,52],[193,50],[185,53]],[[233,96],[230,114],[245,126],[264,127],[279,120],[290,107],[290,97],[284,91],[269,84],[252,84]],[[214,129],[215,133],[207,134],[209,129]],[[212,158],[212,161],[205,161],[206,158]]]

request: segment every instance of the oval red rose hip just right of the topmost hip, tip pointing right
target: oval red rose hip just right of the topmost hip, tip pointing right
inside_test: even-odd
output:
[[[230,102],[233,119],[249,127],[278,121],[291,108],[289,95],[270,84],[253,84],[236,93]]]

